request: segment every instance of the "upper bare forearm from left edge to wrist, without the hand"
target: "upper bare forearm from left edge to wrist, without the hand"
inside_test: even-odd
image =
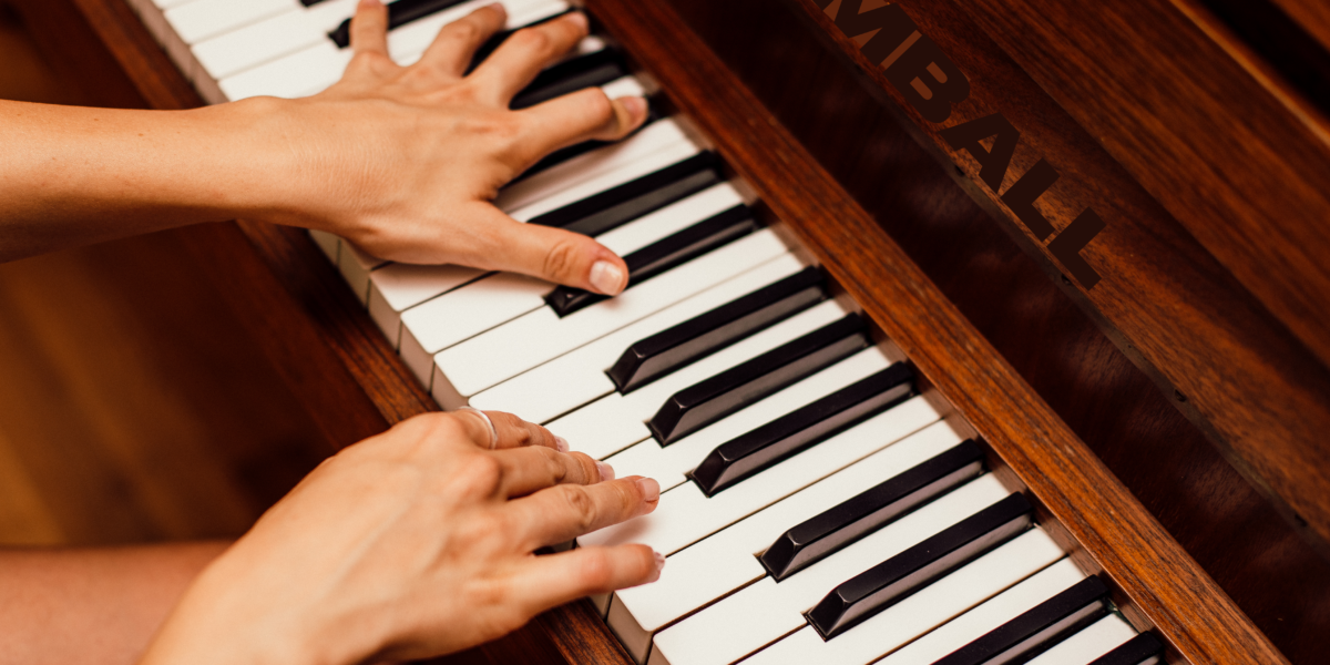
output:
[[[283,102],[182,112],[0,101],[0,262],[241,215],[271,215]]]

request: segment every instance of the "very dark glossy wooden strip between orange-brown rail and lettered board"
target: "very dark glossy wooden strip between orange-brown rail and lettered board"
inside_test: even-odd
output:
[[[926,152],[802,9],[672,5],[1257,626],[1294,662],[1317,662],[1330,564],[956,185],[970,177]]]

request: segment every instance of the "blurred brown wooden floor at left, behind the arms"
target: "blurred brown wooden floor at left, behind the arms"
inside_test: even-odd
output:
[[[0,63],[82,98],[3,4]],[[180,233],[0,265],[0,545],[238,535],[326,455]]]

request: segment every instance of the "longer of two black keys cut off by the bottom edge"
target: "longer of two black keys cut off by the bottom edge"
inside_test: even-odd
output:
[[[1087,577],[934,665],[1025,662],[1108,612],[1108,587]]]

